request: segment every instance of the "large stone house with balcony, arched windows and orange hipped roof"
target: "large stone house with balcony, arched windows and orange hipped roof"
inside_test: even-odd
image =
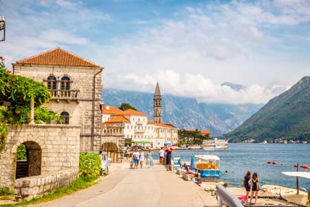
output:
[[[65,124],[81,126],[81,151],[100,148],[101,72],[99,65],[61,48],[12,64],[15,75],[41,81],[53,99],[45,104]]]

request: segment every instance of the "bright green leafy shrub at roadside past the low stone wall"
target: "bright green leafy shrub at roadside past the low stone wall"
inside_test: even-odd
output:
[[[98,153],[89,152],[80,154],[79,176],[87,178],[99,177],[101,172],[101,159]]]

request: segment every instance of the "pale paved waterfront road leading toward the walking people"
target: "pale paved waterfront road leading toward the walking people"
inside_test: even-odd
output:
[[[111,174],[99,184],[39,206],[210,206],[203,188],[167,172],[164,166],[134,170],[129,164],[111,167]]]

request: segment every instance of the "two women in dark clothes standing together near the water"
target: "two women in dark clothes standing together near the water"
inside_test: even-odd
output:
[[[243,186],[247,191],[245,197],[246,199],[249,197],[249,193],[251,192],[250,203],[252,202],[253,196],[255,194],[255,204],[258,199],[258,191],[260,190],[260,180],[258,179],[257,172],[254,172],[251,177],[251,172],[247,171],[247,174],[243,178]]]

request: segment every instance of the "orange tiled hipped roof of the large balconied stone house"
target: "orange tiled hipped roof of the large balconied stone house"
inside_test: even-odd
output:
[[[42,52],[39,55],[21,59],[16,63],[51,66],[100,67],[96,63],[87,61],[86,59],[83,59],[61,48],[54,48],[53,50]]]

